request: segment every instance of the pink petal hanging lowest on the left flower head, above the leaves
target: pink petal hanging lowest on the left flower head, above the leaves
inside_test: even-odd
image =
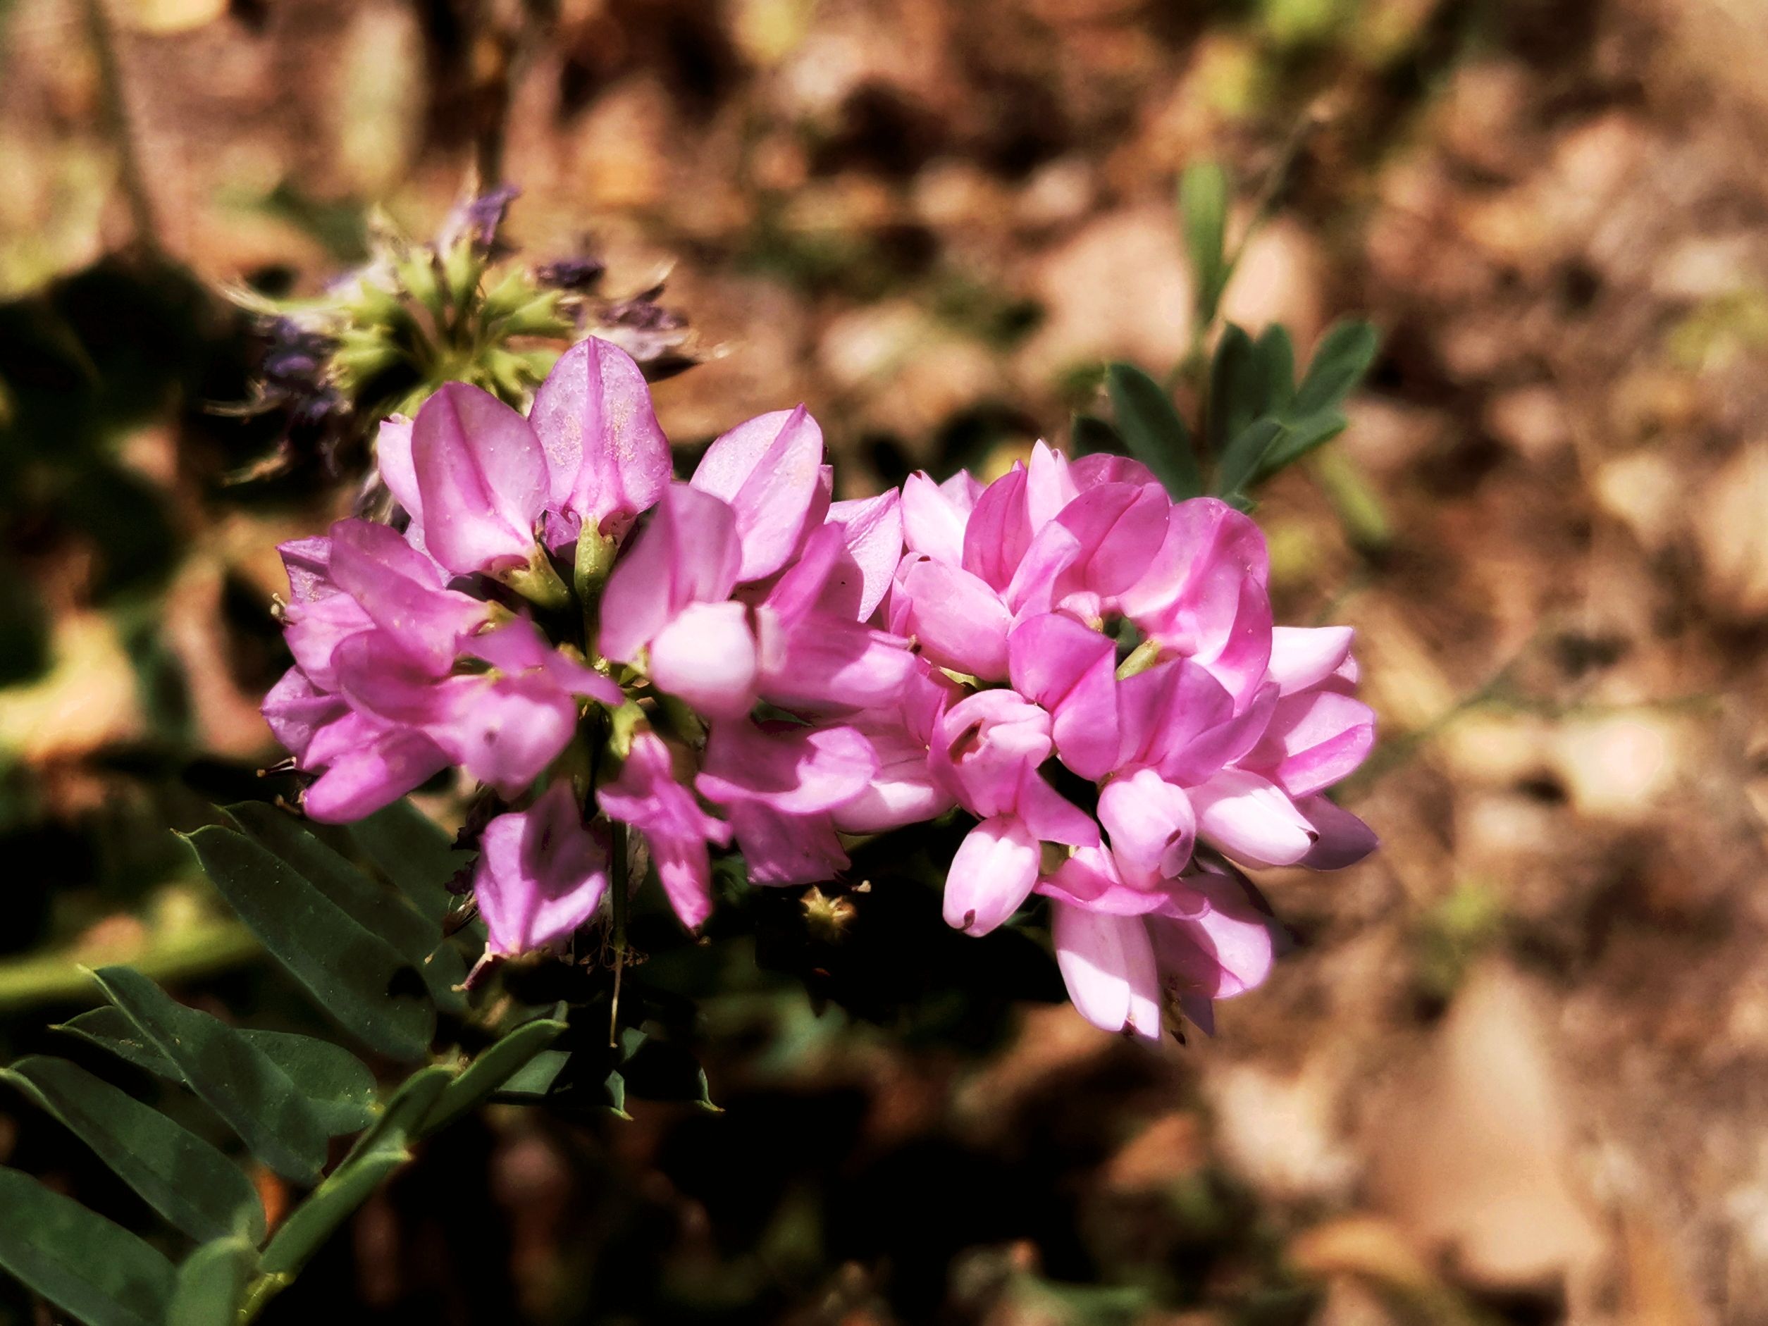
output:
[[[488,951],[525,953],[569,935],[596,914],[606,891],[608,854],[583,827],[569,781],[484,826],[472,895]]]

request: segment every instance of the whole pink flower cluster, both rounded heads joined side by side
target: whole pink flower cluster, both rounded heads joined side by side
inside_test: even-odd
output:
[[[592,338],[527,415],[444,385],[378,465],[403,529],[283,546],[295,667],[265,714],[313,819],[451,766],[488,789],[492,953],[591,921],[628,831],[698,928],[713,847],[812,884],[845,838],[960,808],[946,919],[979,935],[1045,895],[1075,1006],[1158,1036],[1269,967],[1236,863],[1374,847],[1322,796],[1374,741],[1349,629],[1273,626],[1257,527],[1135,461],[1040,444],[987,488],[834,502],[797,408],[682,483],[644,373]]]

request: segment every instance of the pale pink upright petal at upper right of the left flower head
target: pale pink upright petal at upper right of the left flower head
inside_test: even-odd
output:
[[[737,513],[739,582],[771,576],[790,560],[820,497],[822,430],[803,405],[737,424],[707,447],[693,486]]]

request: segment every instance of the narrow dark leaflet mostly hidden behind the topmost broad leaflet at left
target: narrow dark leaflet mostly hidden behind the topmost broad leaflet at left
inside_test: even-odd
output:
[[[467,979],[467,964],[460,949],[444,942],[438,921],[419,916],[401,895],[364,875],[293,815],[263,801],[228,806],[226,813],[248,838],[281,857],[368,934],[385,939],[424,978],[437,1008],[465,1011],[467,997],[460,985]]]

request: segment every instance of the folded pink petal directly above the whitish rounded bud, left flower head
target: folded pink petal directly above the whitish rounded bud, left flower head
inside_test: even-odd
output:
[[[730,506],[684,483],[670,484],[608,576],[601,596],[603,656],[636,663],[686,605],[730,598],[741,559]]]

